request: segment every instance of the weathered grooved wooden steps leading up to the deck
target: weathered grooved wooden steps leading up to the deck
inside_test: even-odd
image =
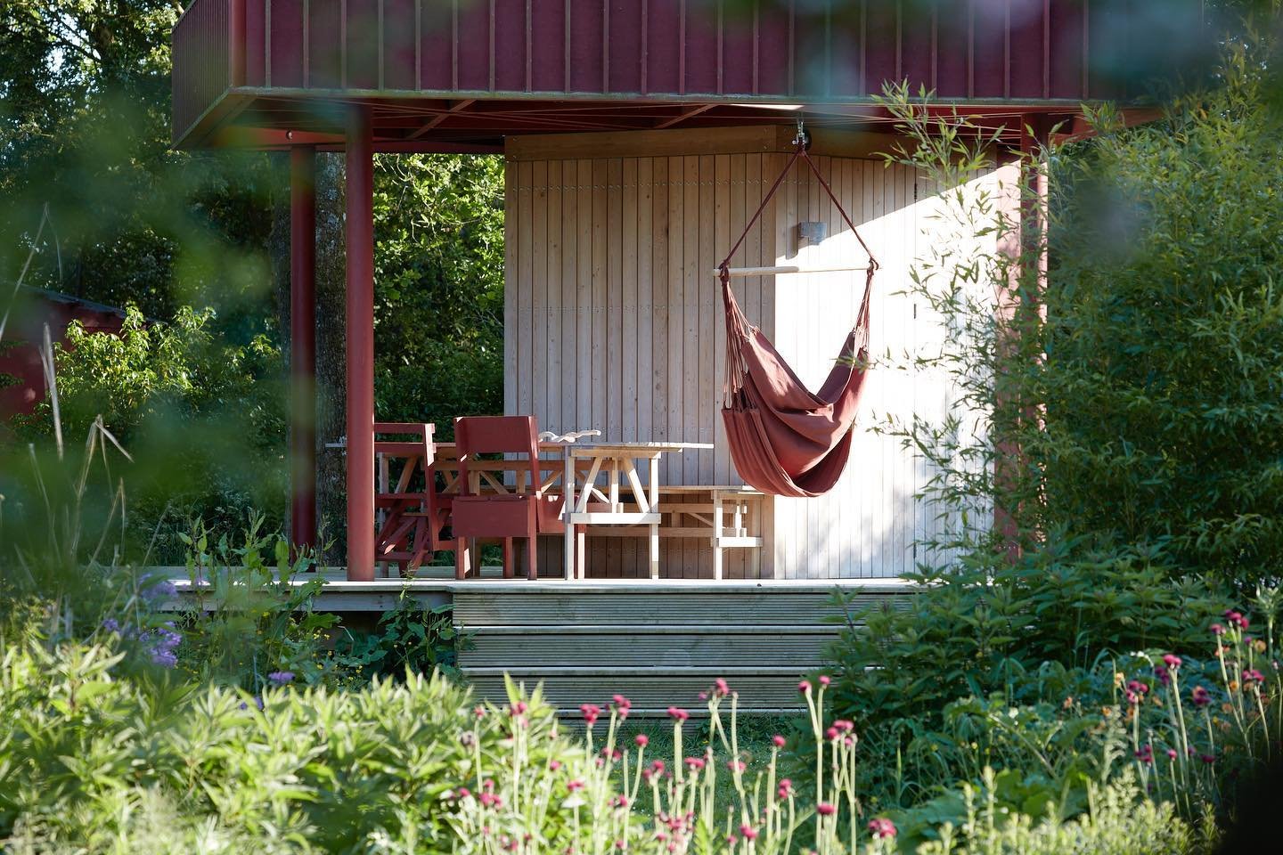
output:
[[[869,579],[858,600],[903,601],[910,588]],[[802,674],[824,664],[842,610],[831,582],[679,585],[476,586],[453,588],[454,622],[471,637],[459,667],[476,691],[504,700],[503,674],[543,683],[565,713],[626,695],[634,715],[663,715],[670,705],[703,710],[699,692],[725,678],[740,709],[793,711],[803,706]]]

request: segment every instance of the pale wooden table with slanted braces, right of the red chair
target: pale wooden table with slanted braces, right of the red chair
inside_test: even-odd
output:
[[[575,567],[584,572],[584,532],[576,526],[647,526],[649,527],[650,578],[659,578],[659,459],[667,452],[712,449],[708,442],[593,442],[565,445],[566,473],[566,578],[575,577]],[[638,476],[638,463],[650,461],[648,483]],[[575,483],[577,461],[588,461],[582,488]],[[597,486],[607,476],[606,491]],[[577,500],[576,500],[577,492]],[[609,510],[589,511],[593,500],[606,502]],[[636,506],[626,509],[625,501]],[[576,561],[576,556],[579,560]]]

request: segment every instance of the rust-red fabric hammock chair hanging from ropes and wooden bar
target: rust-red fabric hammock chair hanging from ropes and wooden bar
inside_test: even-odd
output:
[[[878,261],[815,162],[807,155],[807,140],[801,131],[795,142],[797,151],[784,167],[784,172],[762,199],[761,206],[735,246],[726,254],[726,259],[717,265],[717,278],[721,281],[726,310],[722,422],[726,426],[726,438],[735,470],[745,483],[775,496],[810,499],[833,488],[851,455],[851,435],[869,355],[869,295]],[[842,219],[860,241],[860,246],[869,254],[869,265],[822,269],[729,267],[744,237],[799,159],[815,173],[816,181],[833,200]],[[856,269],[865,270],[865,295],[860,301],[854,326],[838,351],[829,378],[820,391],[811,392],[762,331],[748,322],[731,290],[731,277]]]

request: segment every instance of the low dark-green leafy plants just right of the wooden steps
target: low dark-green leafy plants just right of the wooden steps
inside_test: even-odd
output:
[[[1153,555],[1084,552],[1052,538],[1010,563],[962,560],[910,578],[922,591],[903,608],[851,609],[830,650],[837,709],[861,723],[934,727],[948,701],[967,695],[1058,700],[1073,669],[1189,649],[1224,609],[1212,587],[1173,581]]]

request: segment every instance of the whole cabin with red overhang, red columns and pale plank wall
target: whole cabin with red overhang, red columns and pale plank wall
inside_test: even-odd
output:
[[[736,495],[716,388],[704,381],[720,376],[708,269],[783,163],[801,114],[843,205],[860,210],[857,224],[876,231],[880,254],[893,260],[888,277],[905,276],[922,213],[939,190],[912,174],[874,169],[870,154],[893,133],[875,101],[883,82],[934,90],[933,109],[979,117],[1003,128],[1011,150],[1029,150],[1057,123],[1078,129],[1083,101],[1133,104],[1129,63],[1147,62],[1169,33],[1200,27],[1196,0],[1151,4],[1161,14],[1143,18],[1138,5],[194,0],[173,35],[174,145],[291,150],[291,358],[304,394],[316,336],[313,155],[346,156],[348,578],[372,579],[376,564],[376,151],[507,155],[511,414],[532,414],[559,431],[600,428],[609,441],[707,444],[662,464],[666,485],[677,491],[665,501],[695,508],[681,491],[703,491],[699,506],[711,502],[718,519],[729,506],[736,520],[760,515],[758,536],[667,547],[668,576],[720,576],[721,546],[749,540],[762,554],[735,558],[727,574],[897,576],[919,558],[912,545],[930,515],[913,505],[922,473],[912,459],[878,445],[857,450],[866,468],[881,473],[878,508],[848,492],[749,510]],[[1020,179],[1001,153],[994,167],[996,174],[1007,170],[1008,183]],[[748,263],[822,263],[844,246],[840,222],[816,201],[813,186],[790,185],[788,194],[743,250]],[[798,226],[815,222],[829,224],[833,249],[799,242]],[[831,337],[820,304],[772,277],[749,287],[754,322],[771,324],[801,363],[816,363],[819,351],[803,353],[807,342],[817,332]],[[881,287],[897,290],[894,282]],[[878,308],[875,317],[905,341],[926,335],[905,332],[916,329],[906,314],[912,306]],[[300,542],[314,537],[309,431],[303,423],[294,431]],[[685,524],[670,517],[665,524]],[[595,545],[589,564],[607,574],[644,574],[644,549],[622,540]],[[541,563],[556,565],[561,542],[547,549]]]

